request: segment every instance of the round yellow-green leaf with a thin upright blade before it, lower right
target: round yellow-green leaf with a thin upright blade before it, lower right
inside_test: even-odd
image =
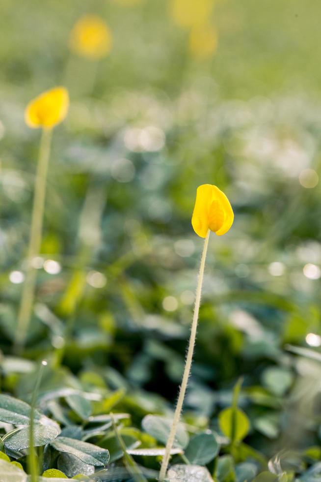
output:
[[[218,415],[219,428],[226,437],[230,440],[233,438],[233,415],[235,416],[234,441],[240,442],[248,433],[250,429],[250,422],[245,413],[237,408],[225,408]]]

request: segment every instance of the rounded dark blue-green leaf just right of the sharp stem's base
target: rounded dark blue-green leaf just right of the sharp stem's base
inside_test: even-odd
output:
[[[191,464],[206,465],[216,457],[219,451],[213,433],[200,433],[194,435],[187,445],[185,456]]]

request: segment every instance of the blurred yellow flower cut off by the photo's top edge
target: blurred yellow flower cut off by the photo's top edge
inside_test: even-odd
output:
[[[170,0],[170,14],[181,27],[204,24],[212,14],[213,0]]]

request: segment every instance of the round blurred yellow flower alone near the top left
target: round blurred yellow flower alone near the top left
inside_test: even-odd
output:
[[[71,50],[90,59],[101,59],[108,55],[111,44],[111,32],[97,15],[81,17],[71,30]]]

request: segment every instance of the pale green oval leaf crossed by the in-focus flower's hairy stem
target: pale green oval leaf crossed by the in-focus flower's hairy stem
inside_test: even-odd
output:
[[[150,435],[155,437],[156,440],[166,445],[172,422],[172,419],[169,419],[167,417],[146,415],[146,417],[143,418],[141,425],[145,432],[149,433]],[[184,428],[184,425],[182,423],[179,423],[173,446],[185,449],[188,444],[188,440],[189,437],[187,431]]]

